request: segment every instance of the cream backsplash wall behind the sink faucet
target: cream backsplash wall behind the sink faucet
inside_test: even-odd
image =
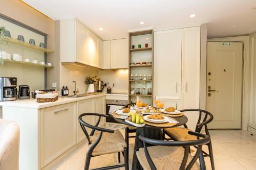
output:
[[[74,94],[75,85],[72,81],[76,81],[76,87],[78,88],[79,92],[86,93],[87,85],[84,83],[86,81],[86,77],[90,76],[98,76],[98,72],[92,69],[86,69],[83,67],[73,66],[73,65],[61,65],[60,63],[60,90],[62,86],[68,86],[69,88],[69,95]]]

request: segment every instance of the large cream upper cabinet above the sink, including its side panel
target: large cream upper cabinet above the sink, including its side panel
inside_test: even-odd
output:
[[[103,41],[77,19],[61,20],[60,62],[103,68]]]

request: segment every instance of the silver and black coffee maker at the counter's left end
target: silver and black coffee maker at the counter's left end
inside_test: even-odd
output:
[[[0,101],[17,100],[17,78],[0,77]]]

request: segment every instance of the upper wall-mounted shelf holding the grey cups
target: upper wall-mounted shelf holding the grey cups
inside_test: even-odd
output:
[[[20,46],[24,46],[24,47],[27,47],[27,48],[31,48],[31,49],[34,49],[34,50],[37,50],[37,51],[40,51],[40,52],[46,52],[46,53],[53,53],[53,52],[54,52],[54,51],[49,50],[49,49],[47,49],[47,48],[41,48],[41,47],[39,47],[39,46],[32,45],[32,44],[30,44],[30,43],[23,42],[23,41],[19,41],[19,40],[17,40],[17,39],[13,39],[13,38],[9,38],[9,37],[0,36],[0,39],[1,39],[2,41],[14,43],[14,44],[17,44],[17,45],[20,45]]]

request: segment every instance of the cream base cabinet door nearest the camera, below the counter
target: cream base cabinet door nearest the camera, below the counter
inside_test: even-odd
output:
[[[41,168],[76,144],[76,103],[40,110]]]

